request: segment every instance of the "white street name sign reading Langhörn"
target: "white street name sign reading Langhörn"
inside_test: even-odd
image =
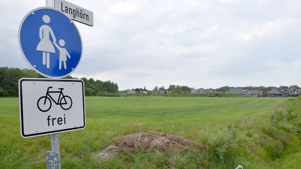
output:
[[[64,0],[54,0],[54,8],[70,16],[72,20],[93,26],[93,12]]]

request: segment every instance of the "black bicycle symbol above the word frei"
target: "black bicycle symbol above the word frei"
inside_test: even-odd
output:
[[[46,96],[42,96],[39,98],[39,100],[37,102],[39,110],[41,112],[47,112],[51,108],[52,103],[51,103],[50,98],[56,105],[60,105],[62,109],[69,110],[72,106],[72,99],[67,95],[64,96],[64,94],[62,92],[62,90],[64,90],[64,88],[58,88],[58,89],[60,89],[60,91],[49,91],[49,89],[51,89],[51,88],[52,87],[48,87]],[[60,95],[58,96],[58,101],[55,101],[49,93],[59,93]],[[61,98],[61,96],[62,96],[62,98]]]

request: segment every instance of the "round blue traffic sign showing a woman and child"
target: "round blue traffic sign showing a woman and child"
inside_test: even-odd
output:
[[[18,40],[30,67],[46,77],[66,77],[81,61],[81,34],[73,20],[54,8],[30,11],[21,21]]]

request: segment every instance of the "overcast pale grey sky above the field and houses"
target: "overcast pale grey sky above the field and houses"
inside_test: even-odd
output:
[[[110,79],[119,90],[301,86],[300,0],[69,2],[94,12],[94,27],[76,22],[83,40],[77,78]],[[18,28],[45,1],[0,5],[0,66],[30,68]]]

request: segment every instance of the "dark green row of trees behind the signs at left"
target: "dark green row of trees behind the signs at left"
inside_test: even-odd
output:
[[[32,69],[20,69],[0,67],[0,97],[3,96],[18,96],[18,81],[21,78],[46,78],[43,75],[35,72]],[[64,79],[77,79],[72,76],[67,76]],[[85,95],[97,96],[108,95],[110,93],[118,92],[117,83],[110,80],[101,81],[90,78],[81,78],[85,83]]]

